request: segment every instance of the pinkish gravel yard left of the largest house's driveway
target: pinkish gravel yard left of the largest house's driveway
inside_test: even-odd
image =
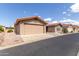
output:
[[[1,34],[1,33],[0,33]],[[0,46],[14,45],[23,42],[22,38],[14,33],[2,33],[0,35]]]

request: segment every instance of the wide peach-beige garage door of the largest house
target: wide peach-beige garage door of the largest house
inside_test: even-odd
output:
[[[44,26],[41,25],[24,25],[25,34],[41,34],[44,33]]]

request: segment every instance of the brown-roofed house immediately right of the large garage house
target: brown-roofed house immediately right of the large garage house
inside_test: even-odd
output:
[[[47,24],[46,31],[48,33],[62,33],[62,25],[60,23]]]

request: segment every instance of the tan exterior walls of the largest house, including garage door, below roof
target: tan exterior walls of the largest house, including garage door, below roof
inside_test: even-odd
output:
[[[16,31],[21,35],[41,34],[46,32],[46,27],[40,21],[22,21],[16,26]]]

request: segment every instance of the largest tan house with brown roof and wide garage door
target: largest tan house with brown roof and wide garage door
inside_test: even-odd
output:
[[[46,24],[38,16],[17,19],[14,25],[15,33],[22,35],[46,33]]]

